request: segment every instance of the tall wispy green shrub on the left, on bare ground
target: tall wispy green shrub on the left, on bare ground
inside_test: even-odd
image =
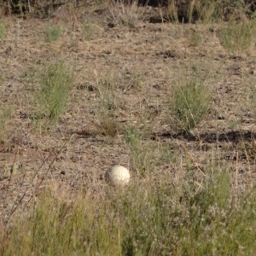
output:
[[[54,125],[67,106],[72,89],[73,71],[64,63],[50,64],[39,73],[39,88],[35,91],[38,125]]]

